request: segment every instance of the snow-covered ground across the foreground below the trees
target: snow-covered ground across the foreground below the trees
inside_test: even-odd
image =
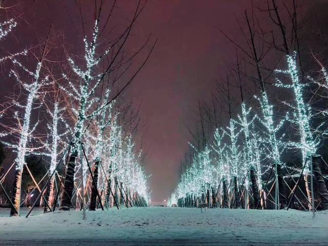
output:
[[[8,214],[9,210],[0,210]],[[328,212],[129,208],[0,217],[0,245],[328,245]]]

